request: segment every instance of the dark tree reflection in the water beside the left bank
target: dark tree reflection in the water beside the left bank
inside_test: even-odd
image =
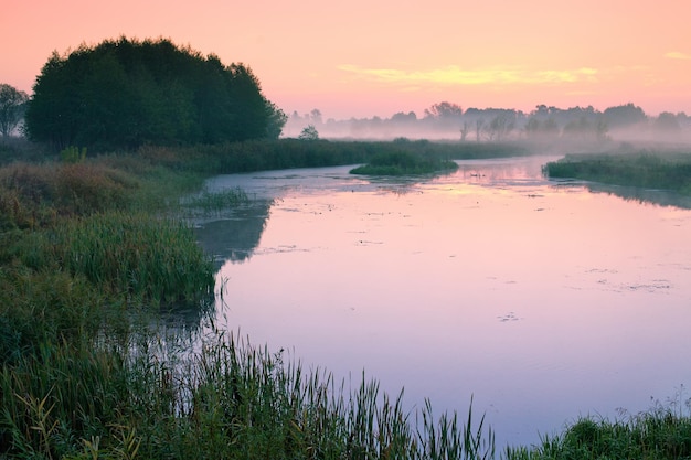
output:
[[[208,221],[195,233],[216,269],[226,261],[242,263],[254,253],[266,226],[272,201],[252,201],[222,218]]]

